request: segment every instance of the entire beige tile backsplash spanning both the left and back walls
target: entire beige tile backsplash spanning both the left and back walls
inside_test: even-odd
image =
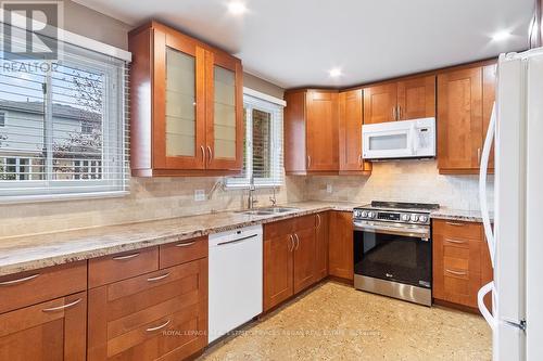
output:
[[[433,160],[375,163],[370,177],[287,177],[278,203],[372,199],[439,203],[479,209],[477,176],[440,176]],[[119,198],[28,203],[0,206],[0,236],[55,232],[143,220],[182,217],[245,207],[247,190],[225,190],[223,178],[132,178],[130,195]],[[492,184],[489,201],[492,205]],[[205,199],[194,201],[203,190]],[[329,191],[331,191],[329,193]],[[256,206],[270,205],[272,190],[257,190]]]

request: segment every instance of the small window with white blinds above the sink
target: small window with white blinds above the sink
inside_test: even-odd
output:
[[[243,95],[245,127],[243,172],[229,178],[228,188],[279,186],[285,182],[282,105]]]

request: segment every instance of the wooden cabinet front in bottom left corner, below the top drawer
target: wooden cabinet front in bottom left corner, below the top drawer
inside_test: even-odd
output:
[[[0,360],[85,360],[87,293],[0,314]]]

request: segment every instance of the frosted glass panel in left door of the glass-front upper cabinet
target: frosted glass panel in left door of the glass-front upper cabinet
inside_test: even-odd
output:
[[[166,155],[195,153],[195,60],[166,48]]]

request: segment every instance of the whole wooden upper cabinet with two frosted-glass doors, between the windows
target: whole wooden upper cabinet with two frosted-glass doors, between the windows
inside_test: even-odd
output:
[[[241,61],[155,22],[129,34],[135,176],[242,167]]]

